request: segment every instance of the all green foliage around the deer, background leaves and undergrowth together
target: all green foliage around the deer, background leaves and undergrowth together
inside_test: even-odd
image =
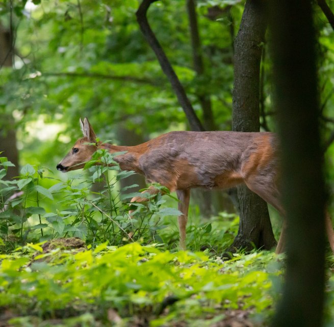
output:
[[[254,320],[258,325],[268,325],[273,300],[279,297],[281,261],[263,252],[236,255],[222,263],[219,255],[238,229],[235,216],[203,220],[198,212],[190,215],[188,248],[218,256],[171,253],[165,250],[175,252],[179,239],[171,196],[158,194],[146,204],[132,204],[130,218],[127,201],[138,192],[134,185],[120,190],[118,182],[131,172],[93,166],[91,161],[86,171],[73,173],[68,180],[54,174],[55,162],[79,135],[80,116],[89,117],[100,137],[116,141],[121,138],[119,126],[143,139],[187,128],[139,31],[135,16],[139,2],[33,0],[38,6],[31,11],[26,4],[0,2],[2,26],[15,30],[16,53],[14,69],[1,68],[0,115],[15,119],[22,167],[18,178],[6,180],[13,164],[0,158],[0,324],[2,312],[8,312],[9,324],[16,326],[134,326],[148,321],[152,326],[179,321],[212,326],[228,316],[226,310],[242,309],[258,314]],[[197,1],[204,62],[200,77],[193,68],[185,2],[159,1],[148,12],[196,113],[201,117],[198,95],[210,97],[220,130],[230,129],[232,44],[243,4]],[[323,105],[319,115],[324,136],[330,138],[332,120],[326,117],[334,112],[334,42],[326,18],[315,7]],[[273,130],[270,67],[267,52],[262,62],[262,126],[266,120]],[[7,127],[1,119],[1,132],[6,134]],[[330,147],[326,153],[329,168],[333,151]],[[115,164],[102,152],[93,160]],[[329,181],[334,179],[332,171],[327,171]],[[105,186],[92,191],[99,181]],[[43,241],[63,237],[80,237],[89,249],[74,253],[57,245],[45,252]],[[326,313],[331,325],[334,282],[328,278]],[[170,303],[165,310],[164,303]]]

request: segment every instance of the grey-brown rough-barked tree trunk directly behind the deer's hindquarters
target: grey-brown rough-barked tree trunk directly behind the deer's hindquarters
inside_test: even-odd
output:
[[[233,130],[260,130],[260,63],[266,31],[265,1],[247,0],[235,40]],[[268,207],[264,200],[238,186],[240,224],[234,248],[272,248],[275,244]]]

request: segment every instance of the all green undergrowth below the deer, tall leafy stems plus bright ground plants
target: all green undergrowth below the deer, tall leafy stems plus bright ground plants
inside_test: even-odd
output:
[[[120,172],[109,153],[65,181],[31,165],[7,180],[11,165],[0,157],[0,326],[270,325],[284,256],[241,251],[223,261],[235,215],[190,215],[189,251],[178,251],[177,199],[157,184],[166,195],[129,203],[143,195],[120,188],[133,172]],[[326,327],[332,267],[330,256]]]

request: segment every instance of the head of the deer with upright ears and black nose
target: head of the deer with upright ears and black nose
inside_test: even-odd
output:
[[[80,119],[80,126],[84,137],[75,142],[73,148],[57,165],[57,169],[63,173],[84,168],[86,162],[91,159],[92,154],[97,150],[97,145],[88,144],[96,143],[96,135],[88,119],[85,118],[84,121]]]

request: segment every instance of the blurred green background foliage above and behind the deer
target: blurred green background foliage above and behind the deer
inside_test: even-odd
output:
[[[81,136],[87,116],[100,139],[133,145],[169,130],[189,129],[167,78],[136,21],[137,0],[5,0],[0,3],[2,55],[0,132],[3,148],[14,129],[19,164],[55,166]],[[333,7],[332,3],[329,6]],[[204,72],[192,59],[186,2],[153,3],[148,19],[192,105],[202,119],[198,95],[208,95],[218,130],[231,129],[233,40],[244,1],[199,0],[198,29]],[[334,148],[333,30],[315,6],[326,162]],[[270,35],[267,35],[270,41]],[[6,43],[7,42],[7,43]],[[8,55],[9,54],[9,55]],[[5,64],[8,56],[12,61]],[[275,130],[270,53],[264,45],[261,124]],[[300,114],[302,115],[302,109]],[[14,125],[13,125],[13,124]],[[4,154],[3,154],[4,155]],[[6,155],[6,154],[5,154]],[[327,170],[328,181],[334,170]]]

